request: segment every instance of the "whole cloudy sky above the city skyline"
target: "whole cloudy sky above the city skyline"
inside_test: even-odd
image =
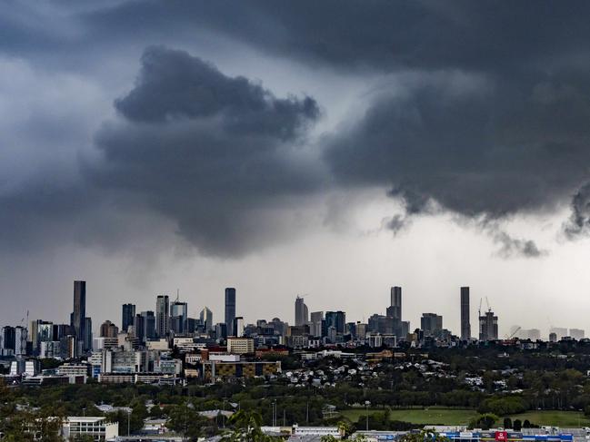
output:
[[[7,1],[0,324],[180,291],[590,331],[586,2]]]

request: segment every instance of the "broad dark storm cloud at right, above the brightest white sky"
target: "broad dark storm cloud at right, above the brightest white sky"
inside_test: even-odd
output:
[[[468,216],[535,211],[588,177],[590,83],[434,73],[403,78],[353,127],[327,162],[345,183],[383,183],[419,212],[429,198]]]

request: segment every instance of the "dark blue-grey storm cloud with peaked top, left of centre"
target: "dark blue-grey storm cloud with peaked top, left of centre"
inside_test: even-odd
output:
[[[95,186],[124,192],[175,221],[200,250],[240,254],[281,235],[281,209],[321,177],[302,151],[319,116],[311,97],[280,99],[182,51],[150,47],[135,88],[105,124]]]

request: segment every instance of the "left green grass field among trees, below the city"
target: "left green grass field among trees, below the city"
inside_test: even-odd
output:
[[[382,409],[371,409],[374,411],[383,411]],[[365,417],[364,408],[355,408],[343,410],[342,415],[348,417],[351,421],[356,422],[358,417]],[[472,417],[477,416],[473,409],[451,409],[451,408],[425,408],[425,409],[392,409],[392,420],[403,420],[413,424],[430,424],[430,425],[461,425],[467,424]]]

